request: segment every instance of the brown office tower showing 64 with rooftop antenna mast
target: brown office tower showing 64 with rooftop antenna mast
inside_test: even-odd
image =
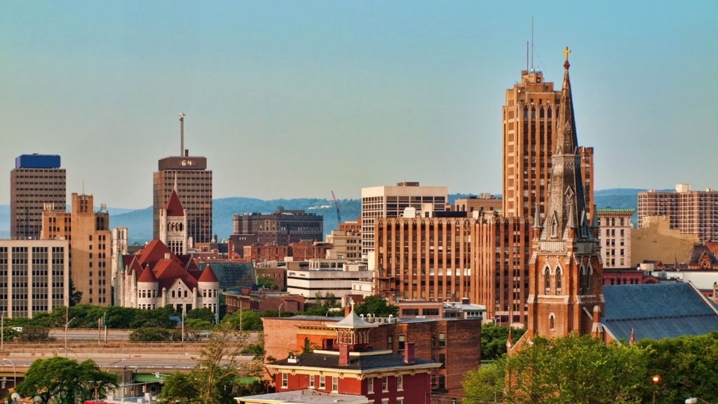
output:
[[[191,243],[212,241],[212,171],[207,170],[207,157],[190,156],[185,149],[185,115],[180,114],[182,140],[179,157],[159,160],[152,177],[153,238],[159,239],[159,210],[169,200],[177,180],[177,195],[187,213],[187,236]]]

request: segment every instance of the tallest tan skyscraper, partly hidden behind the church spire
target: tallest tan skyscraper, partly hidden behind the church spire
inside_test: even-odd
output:
[[[561,91],[554,91],[554,83],[544,81],[544,73],[538,70],[523,70],[521,82],[506,90],[502,108],[504,216],[530,217],[537,203],[541,214],[545,213],[560,110]],[[593,147],[579,147],[579,155],[587,213],[592,217]]]

